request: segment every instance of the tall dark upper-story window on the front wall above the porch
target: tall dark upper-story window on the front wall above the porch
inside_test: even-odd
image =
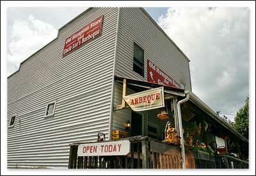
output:
[[[144,51],[136,44],[133,46],[133,70],[144,77]]]

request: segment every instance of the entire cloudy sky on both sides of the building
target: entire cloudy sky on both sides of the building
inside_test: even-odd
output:
[[[86,8],[8,8],[7,75],[56,38]],[[234,115],[249,93],[249,9],[145,8],[190,60],[192,91],[214,111]],[[221,116],[223,114],[220,114]]]

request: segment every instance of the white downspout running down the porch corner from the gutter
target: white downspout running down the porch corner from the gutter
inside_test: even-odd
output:
[[[181,148],[181,156],[182,156],[182,169],[186,169],[186,158],[185,158],[185,147],[184,147],[184,138],[183,138],[183,130],[182,130],[182,120],[181,120],[181,111],[180,111],[180,104],[189,100],[189,94],[186,93],[186,98],[180,100],[177,103],[177,110],[178,110],[178,119],[179,119],[179,133],[180,133],[180,148]]]

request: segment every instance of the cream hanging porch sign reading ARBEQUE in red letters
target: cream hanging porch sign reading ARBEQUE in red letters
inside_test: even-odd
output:
[[[145,111],[164,107],[164,87],[152,88],[123,98],[132,111]]]

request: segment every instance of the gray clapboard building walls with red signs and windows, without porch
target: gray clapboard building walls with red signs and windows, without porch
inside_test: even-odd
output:
[[[157,82],[154,68],[169,82]],[[191,91],[189,59],[143,8],[88,8],[8,77],[8,168],[68,168],[70,143],[95,141],[99,132],[111,140],[136,116],[142,136],[163,140],[157,110],[115,111],[122,103],[115,77]]]

